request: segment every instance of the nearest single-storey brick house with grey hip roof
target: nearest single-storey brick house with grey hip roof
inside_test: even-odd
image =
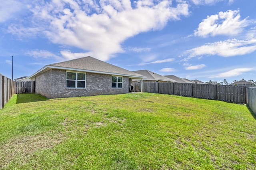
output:
[[[29,78],[37,94],[60,98],[129,93],[132,79],[146,77],[88,56],[46,65]]]

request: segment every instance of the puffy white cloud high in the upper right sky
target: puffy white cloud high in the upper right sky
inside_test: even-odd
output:
[[[239,10],[228,10],[207,16],[194,31],[194,36],[237,35],[248,26],[249,20],[240,20]]]

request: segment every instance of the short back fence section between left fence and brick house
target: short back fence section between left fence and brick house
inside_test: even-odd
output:
[[[15,94],[35,93],[35,81],[15,81]]]

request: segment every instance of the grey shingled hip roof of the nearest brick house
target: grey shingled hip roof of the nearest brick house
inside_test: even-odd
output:
[[[117,67],[115,65],[106,63],[104,61],[101,61],[99,59],[96,59],[90,56],[46,65],[42,69],[38,70],[36,73],[31,75],[29,78],[39,75],[49,69],[66,69],[66,70],[84,71],[84,72],[90,72],[90,73],[122,75],[122,76],[128,76],[130,78],[146,78],[143,75],[140,75],[138,73],[128,71],[121,67]]]

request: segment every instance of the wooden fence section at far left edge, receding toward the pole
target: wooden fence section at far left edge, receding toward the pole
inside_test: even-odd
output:
[[[14,81],[0,74],[0,109],[10,100],[14,94]]]

